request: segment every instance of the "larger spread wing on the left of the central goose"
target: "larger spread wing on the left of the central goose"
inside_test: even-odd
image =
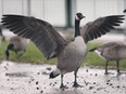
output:
[[[30,39],[45,57],[55,57],[67,42],[48,22],[23,15],[3,15],[1,22],[12,32]]]

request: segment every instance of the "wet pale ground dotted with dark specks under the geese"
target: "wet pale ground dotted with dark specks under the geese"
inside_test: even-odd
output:
[[[0,94],[126,94],[126,71],[117,76],[116,69],[81,67],[78,70],[78,83],[84,88],[72,88],[73,72],[64,76],[68,89],[62,91],[60,76],[49,79],[49,73],[55,68],[51,65],[32,65],[2,62],[0,64]]]

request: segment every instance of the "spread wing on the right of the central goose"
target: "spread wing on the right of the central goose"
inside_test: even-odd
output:
[[[81,36],[84,37],[85,42],[87,43],[90,40],[97,39],[106,32],[110,32],[112,29],[115,29],[115,26],[119,26],[123,23],[124,15],[111,15],[105,17],[99,17],[93,22],[87,23],[81,28]]]

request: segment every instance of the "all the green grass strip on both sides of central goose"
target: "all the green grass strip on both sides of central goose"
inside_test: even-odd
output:
[[[4,61],[5,59],[5,54],[4,51],[7,49],[7,42],[2,42],[0,46],[0,59]],[[98,43],[88,43],[88,50],[92,49],[94,46],[99,45]],[[11,52],[11,57],[10,61],[13,62],[20,62],[20,63],[33,63],[33,64],[56,64],[56,58],[47,61],[41,52],[36,48],[36,45],[33,42],[29,42],[26,53],[23,54],[20,58],[16,58],[16,55],[14,52]],[[99,66],[103,68],[105,66],[105,61],[99,57],[94,52],[89,52],[86,59],[83,62],[85,66]],[[121,68],[125,69],[126,68],[126,61],[121,61]],[[110,68],[116,68],[116,63],[115,62],[110,62],[109,64]]]

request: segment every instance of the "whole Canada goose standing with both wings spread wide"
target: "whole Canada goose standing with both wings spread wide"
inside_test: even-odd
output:
[[[77,71],[80,62],[86,57],[87,45],[89,40],[105,35],[114,26],[119,26],[124,19],[124,15],[112,15],[100,17],[88,23],[79,30],[79,23],[85,16],[77,13],[75,16],[75,39],[67,42],[48,22],[23,15],[3,15],[3,25],[12,32],[29,38],[36,46],[43,53],[47,59],[58,57],[56,69],[50,73],[50,78],[54,78],[61,73],[61,89],[66,86],[63,84],[63,76],[66,72],[74,71],[75,88],[80,86],[77,83]],[[84,37],[84,38],[83,38]]]

